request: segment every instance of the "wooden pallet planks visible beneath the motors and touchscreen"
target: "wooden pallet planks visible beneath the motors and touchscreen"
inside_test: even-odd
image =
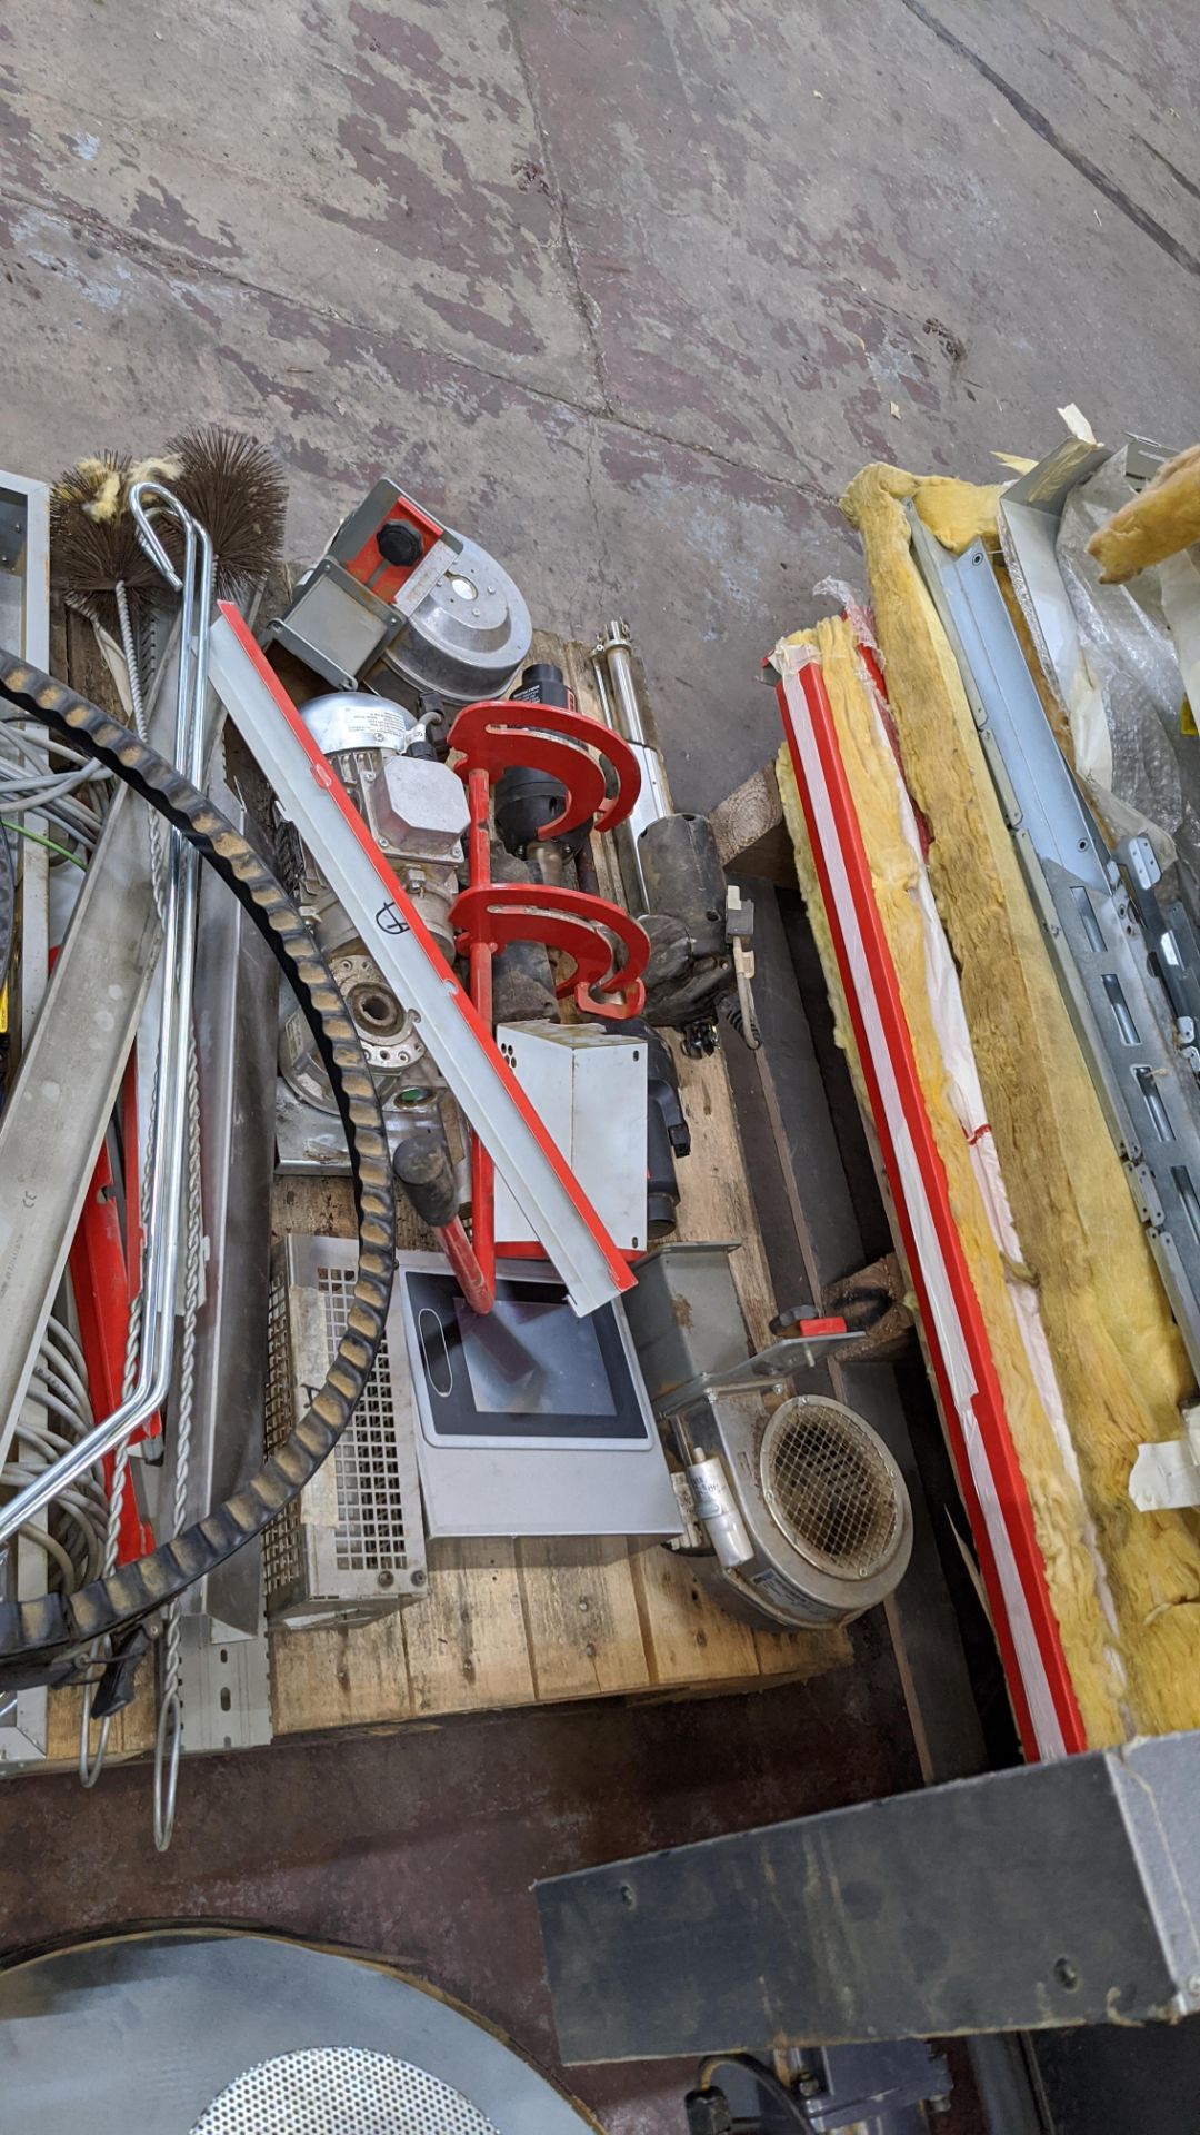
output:
[[[534,658],[564,666],[596,711],[581,645],[538,634]],[[600,888],[619,895],[604,841]],[[692,1127],[679,1164],[685,1240],[739,1238],[735,1279],[756,1345],[773,1313],[724,1059],[677,1053]],[[401,1243],[429,1234],[401,1213]],[[280,1179],[275,1230],[352,1236],[350,1183]],[[271,1633],[275,1736],[376,1729],[457,1712],[562,1704],[581,1697],[700,1695],[803,1680],[850,1659],[846,1631],[760,1631],[732,1616],[688,1559],[660,1544],[438,1541],[429,1588],[374,1625]],[[152,1740],[149,1670],[117,1717],[113,1757]],[[49,1759],[75,1761],[79,1699],[51,1695]]]

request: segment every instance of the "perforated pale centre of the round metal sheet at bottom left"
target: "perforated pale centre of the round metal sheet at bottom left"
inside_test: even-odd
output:
[[[354,2045],[280,2054],[235,2075],[192,2135],[498,2135],[461,2090]]]

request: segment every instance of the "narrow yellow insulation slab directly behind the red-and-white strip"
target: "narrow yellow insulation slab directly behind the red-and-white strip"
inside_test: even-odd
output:
[[[974,540],[974,534],[969,538]],[[1031,1492],[1033,1524],[1046,1561],[1051,1606],[1059,1620],[1063,1648],[1070,1655],[1072,1682],[1087,1740],[1091,1744],[1119,1742],[1130,1731],[1132,1717],[1125,1695],[1125,1670],[1115,1652],[1112,1631],[1104,1614],[1104,1571],[1089,1548],[1091,1522],[1080,1497],[1078,1471],[1072,1471],[1070,1456],[1063,1460],[1055,1445],[1046,1403],[1021,1332],[1014,1290],[1021,1281],[1027,1283],[1027,1275],[1014,1266],[1012,1255],[1001,1251],[989,1221],[963,1119],[950,1089],[950,1074],[931,1006],[933,978],[927,965],[927,924],[918,903],[920,852],[914,839],[905,835],[901,818],[905,796],[899,769],[888,747],[873,692],[867,685],[850,626],[841,619],[824,621],[792,643],[814,645],[820,658],[841,762],[854,796],[854,813],[871,858],[875,905],[897,969],[925,1108],[946,1168],[950,1208],[995,1358],[1008,1428],[1023,1467],[1027,1462],[1036,1465],[1042,1477],[1040,1490]],[[786,771],[781,766],[781,794],[796,841],[801,880],[807,871],[811,884],[811,852],[803,835],[803,816],[799,811],[790,762]],[[809,910],[814,903],[820,903],[820,897],[814,899],[809,888]],[[818,946],[833,961],[828,927],[822,927],[822,935],[824,939],[818,939]],[[846,1010],[839,982],[835,1014],[841,1025]],[[1059,1407],[1057,1401],[1055,1407]]]

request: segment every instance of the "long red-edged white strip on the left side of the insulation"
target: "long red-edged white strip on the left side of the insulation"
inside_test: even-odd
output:
[[[946,1191],[820,662],[781,647],[779,709],[1025,1753],[1085,1749],[986,1328]]]

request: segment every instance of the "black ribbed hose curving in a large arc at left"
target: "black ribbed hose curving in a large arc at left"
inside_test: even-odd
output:
[[[395,1270],[395,1193],[376,1085],[312,933],[252,845],[162,756],[73,690],[0,651],[0,698],[107,764],[218,871],[293,986],[329,1074],[354,1181],[359,1275],[325,1386],[258,1475],[149,1556],[73,1595],[0,1603],[0,1691],[68,1682],[96,1638],[122,1635],[233,1556],[316,1475],[346,1430],[380,1347]]]

